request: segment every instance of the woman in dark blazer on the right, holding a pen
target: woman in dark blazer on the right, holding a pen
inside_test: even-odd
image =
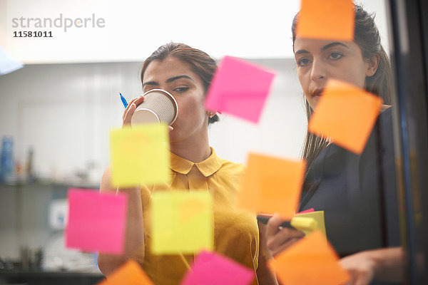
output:
[[[327,238],[352,274],[351,284],[372,279],[401,279],[397,185],[389,95],[392,72],[380,43],[374,16],[355,5],[354,41],[300,38],[298,14],[292,23],[297,76],[305,94],[307,119],[322,96],[327,80],[335,78],[365,89],[384,106],[362,155],[355,155],[307,132],[303,158],[307,161],[300,210],[324,210]],[[275,215],[267,224],[267,247],[272,254],[304,236],[282,229]],[[389,249],[382,249],[391,247]],[[397,269],[385,274],[386,269]]]

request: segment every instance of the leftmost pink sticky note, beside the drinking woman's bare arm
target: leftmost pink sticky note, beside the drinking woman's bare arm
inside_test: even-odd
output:
[[[96,190],[68,190],[66,247],[122,254],[128,196]]]

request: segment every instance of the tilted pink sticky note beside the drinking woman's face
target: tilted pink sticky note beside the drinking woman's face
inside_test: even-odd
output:
[[[258,123],[274,77],[266,68],[225,56],[208,88],[205,108]]]

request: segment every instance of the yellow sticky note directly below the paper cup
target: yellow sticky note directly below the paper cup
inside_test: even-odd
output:
[[[150,124],[111,130],[112,182],[116,187],[170,180],[166,125]]]

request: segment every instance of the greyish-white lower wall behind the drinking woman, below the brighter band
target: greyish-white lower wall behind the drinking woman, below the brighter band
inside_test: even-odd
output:
[[[250,150],[297,157],[305,116],[294,63],[257,62],[278,74],[260,124],[221,115],[210,127],[211,144],[237,162],[245,162]],[[64,181],[95,162],[99,179],[109,160],[108,131],[121,126],[118,92],[128,99],[141,94],[140,68],[141,63],[29,65],[1,76],[0,136],[14,137],[22,164],[34,147],[39,175]]]

